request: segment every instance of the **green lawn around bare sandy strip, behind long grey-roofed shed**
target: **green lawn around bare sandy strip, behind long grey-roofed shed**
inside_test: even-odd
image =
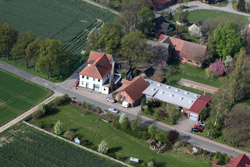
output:
[[[211,79],[207,79],[205,69],[203,68],[197,68],[196,66],[189,65],[189,64],[180,64],[180,63],[174,63],[172,64],[178,72],[174,74],[172,77],[168,79],[166,84],[172,85],[174,87],[178,87],[187,91],[191,91],[198,94],[203,94],[203,91],[196,90],[193,88],[189,88],[186,86],[181,86],[177,82],[181,79],[189,79],[195,82],[199,82],[202,84],[210,85],[219,88],[221,84],[223,83],[223,78],[219,78],[216,81],[213,81]]]

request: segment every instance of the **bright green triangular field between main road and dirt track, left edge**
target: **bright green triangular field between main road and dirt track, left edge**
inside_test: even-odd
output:
[[[0,69],[0,126],[51,94],[46,88]]]

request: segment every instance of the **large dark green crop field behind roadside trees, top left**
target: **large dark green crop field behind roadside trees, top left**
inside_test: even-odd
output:
[[[83,59],[80,53],[89,32],[113,20],[113,14],[78,0],[0,0],[1,23],[7,22],[20,32],[33,31],[38,37],[62,42],[72,65],[61,79],[80,66]],[[27,70],[35,71],[33,68]]]

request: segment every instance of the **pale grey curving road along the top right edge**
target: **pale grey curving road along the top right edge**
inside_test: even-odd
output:
[[[233,0],[229,0],[228,1],[228,5],[226,7],[217,7],[217,6],[212,6],[212,5],[208,5],[199,1],[192,1],[188,3],[188,11],[192,11],[192,10],[217,10],[217,11],[224,11],[224,12],[229,12],[229,13],[234,13],[234,14],[238,14],[238,15],[244,15],[244,16],[250,16],[250,14],[247,13],[242,13],[242,12],[238,12],[235,11],[232,7],[233,4]],[[176,10],[176,8],[178,8],[180,5],[186,5],[184,3],[178,3],[176,5],[170,6],[166,9],[163,9],[159,12],[174,12]],[[211,11],[212,12],[212,11]]]

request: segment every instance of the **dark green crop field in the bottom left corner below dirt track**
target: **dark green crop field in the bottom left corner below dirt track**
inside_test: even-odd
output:
[[[0,162],[3,167],[120,166],[24,124],[0,135]]]

